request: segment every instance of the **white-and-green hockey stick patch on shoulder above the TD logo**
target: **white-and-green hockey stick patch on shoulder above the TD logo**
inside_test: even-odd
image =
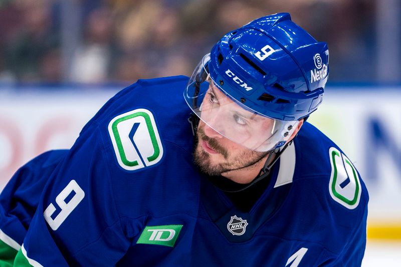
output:
[[[156,164],[163,147],[153,114],[135,109],[121,114],[109,123],[109,134],[118,164],[126,170],[137,170]]]

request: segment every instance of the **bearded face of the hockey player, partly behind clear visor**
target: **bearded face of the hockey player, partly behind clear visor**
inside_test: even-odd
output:
[[[220,116],[216,116],[216,112]],[[236,130],[232,126],[233,123],[238,124],[235,127],[241,127],[243,136],[246,136],[243,130],[245,127],[242,126],[245,123],[247,125],[250,123],[259,123],[260,127],[255,127],[257,131],[264,131],[266,130],[265,128],[271,127],[272,120],[258,119],[254,114],[246,113],[247,111],[241,109],[232,100],[228,99],[220,90],[213,90],[211,87],[202,103],[201,117],[203,119],[206,118],[207,121],[214,120],[214,125],[220,124],[222,125],[222,129],[231,132]],[[247,118],[251,119],[247,120]],[[255,168],[254,164],[261,161],[268,154],[268,152],[256,152],[231,141],[202,120],[200,120],[198,125],[197,139],[198,144],[194,152],[194,160],[200,169],[209,175],[221,175],[228,171]],[[249,141],[250,138],[246,140]],[[256,139],[256,142],[260,141]]]

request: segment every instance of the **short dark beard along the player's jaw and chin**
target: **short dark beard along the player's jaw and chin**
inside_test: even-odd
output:
[[[206,136],[205,131],[202,128],[197,129],[197,144],[193,153],[193,160],[195,164],[200,168],[201,171],[210,176],[219,176],[224,172],[244,169],[244,168],[255,168],[255,163],[263,159],[269,152],[256,152],[253,150],[245,150],[243,153],[239,154],[235,158],[230,159],[230,153],[224,147],[220,146],[219,142]],[[219,164],[211,164],[211,159],[209,153],[204,151],[200,145],[199,141],[203,140],[208,142],[209,146],[223,155],[225,162]]]

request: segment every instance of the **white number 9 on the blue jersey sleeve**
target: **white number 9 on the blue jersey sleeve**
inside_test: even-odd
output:
[[[74,191],[74,196],[66,203],[66,198]],[[71,180],[71,182],[63,189],[63,191],[58,194],[56,197],[56,203],[61,208],[60,213],[52,219],[53,213],[56,211],[56,207],[53,203],[46,208],[43,215],[45,216],[45,220],[49,224],[49,226],[55,231],[60,225],[64,222],[64,220],[70,215],[70,213],[76,208],[84,198],[85,192],[82,188],[77,184],[75,180]]]

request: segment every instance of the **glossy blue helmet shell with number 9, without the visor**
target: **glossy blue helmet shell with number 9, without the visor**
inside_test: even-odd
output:
[[[322,102],[328,60],[326,43],[280,13],[225,35],[213,47],[208,68],[215,83],[249,109],[293,121]]]

